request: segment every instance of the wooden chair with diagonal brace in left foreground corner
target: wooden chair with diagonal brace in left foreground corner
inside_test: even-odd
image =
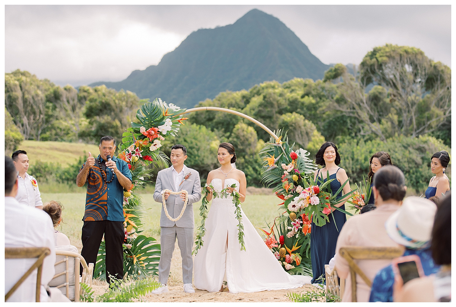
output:
[[[5,302],[10,296],[21,286],[22,282],[37,269],[36,272],[36,302],[40,302],[41,290],[41,271],[43,268],[43,260],[51,251],[47,247],[5,247],[5,259],[29,259],[38,258],[36,262],[25,272],[25,274],[16,282],[16,284],[6,293]]]

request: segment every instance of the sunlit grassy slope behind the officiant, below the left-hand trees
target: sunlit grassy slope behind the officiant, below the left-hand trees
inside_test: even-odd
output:
[[[81,156],[88,156],[90,151],[93,156],[98,156],[98,145],[68,142],[38,142],[23,141],[17,149],[27,152],[30,164],[36,161],[60,163],[63,167],[74,164]]]

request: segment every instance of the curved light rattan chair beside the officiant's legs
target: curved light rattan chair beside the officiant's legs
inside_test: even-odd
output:
[[[93,263],[89,263],[87,265],[87,262],[78,253],[72,252],[72,251],[56,251],[56,256],[57,256],[57,262],[55,264],[56,266],[56,273],[59,271],[54,277],[52,278],[52,281],[49,282],[50,287],[55,287],[57,289],[65,287],[66,288],[66,297],[70,300],[74,300],[74,302],[79,302],[79,296],[83,294],[83,289],[79,287],[79,283],[83,282],[87,284],[89,287],[92,287],[92,275],[93,275]],[[71,258],[74,258],[74,266],[73,266],[73,260]],[[72,264],[71,270],[70,270],[70,262]],[[59,266],[60,264],[65,263],[65,266]],[[83,266],[83,273],[82,277],[79,277],[80,269],[79,265]],[[73,276],[74,274],[74,276]],[[64,277],[64,282],[60,284],[63,280],[60,276],[65,275]],[[60,277],[60,278],[59,278]],[[70,281],[70,278],[74,278],[73,280]],[[79,280],[81,278],[81,281]],[[56,283],[58,284],[57,286]],[[52,286],[51,286],[52,285]],[[70,287],[74,287],[74,291],[70,293]],[[73,290],[73,289],[72,289]]]

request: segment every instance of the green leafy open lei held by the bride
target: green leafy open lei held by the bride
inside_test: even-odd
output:
[[[232,184],[229,186],[230,188],[235,188],[236,184]],[[203,245],[203,240],[202,238],[206,234],[206,219],[207,219],[207,205],[209,204],[209,201],[207,201],[207,195],[211,194],[210,190],[212,190],[212,196],[213,198],[228,198],[228,194],[233,197],[233,204],[236,207],[236,210],[234,213],[236,214],[236,219],[238,220],[238,240],[239,244],[241,245],[241,251],[245,251],[245,246],[244,246],[244,225],[242,224],[242,214],[241,214],[241,201],[239,200],[241,195],[233,189],[232,193],[228,193],[228,187],[225,189],[221,190],[220,192],[217,192],[212,184],[206,184],[203,188],[204,191],[204,196],[201,200],[201,206],[200,206],[200,216],[201,216],[201,225],[198,227],[198,234],[197,234],[197,240],[195,241],[195,250],[193,250],[194,255],[197,254],[198,250],[202,247]]]

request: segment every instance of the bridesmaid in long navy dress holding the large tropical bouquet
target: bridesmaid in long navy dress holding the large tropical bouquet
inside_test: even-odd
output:
[[[315,171],[314,180],[318,180],[317,183],[321,184],[326,182],[327,172],[329,172],[329,179],[336,179],[331,182],[332,194],[335,194],[341,187],[348,177],[345,173],[345,169],[338,167],[340,164],[341,157],[337,152],[337,146],[332,142],[326,142],[321,145],[320,150],[316,153],[316,164],[325,166],[322,169]],[[342,189],[343,194],[350,192],[350,184],[347,182]],[[337,195],[341,197],[342,192]],[[345,210],[345,202],[337,205],[337,207]],[[332,219],[334,215],[334,220]],[[313,278],[311,283],[321,283],[321,275],[325,274],[325,264],[329,264],[329,261],[336,252],[337,237],[339,231],[342,229],[343,224],[347,221],[347,217],[344,213],[332,208],[332,215],[329,216],[329,222],[326,222],[323,226],[317,226],[312,221],[311,231],[311,261],[312,261],[312,273]]]

